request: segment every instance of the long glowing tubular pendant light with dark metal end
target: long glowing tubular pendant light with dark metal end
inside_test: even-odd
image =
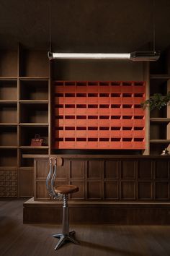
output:
[[[89,53],[53,53],[48,51],[51,59],[130,59],[131,61],[157,61],[157,51],[134,51],[130,54],[89,54]]]

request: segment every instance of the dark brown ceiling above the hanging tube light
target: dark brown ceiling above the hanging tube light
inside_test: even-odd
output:
[[[51,31],[53,51],[151,50],[155,24],[156,50],[163,51],[169,13],[169,0],[1,0],[0,47],[48,49]]]

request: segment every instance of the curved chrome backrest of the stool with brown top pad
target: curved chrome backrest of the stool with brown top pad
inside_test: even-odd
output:
[[[46,179],[46,187],[48,189],[48,194],[53,199],[57,199],[59,196],[55,193],[55,177],[57,174],[57,166],[63,166],[63,158],[55,157],[49,159],[49,172]]]

